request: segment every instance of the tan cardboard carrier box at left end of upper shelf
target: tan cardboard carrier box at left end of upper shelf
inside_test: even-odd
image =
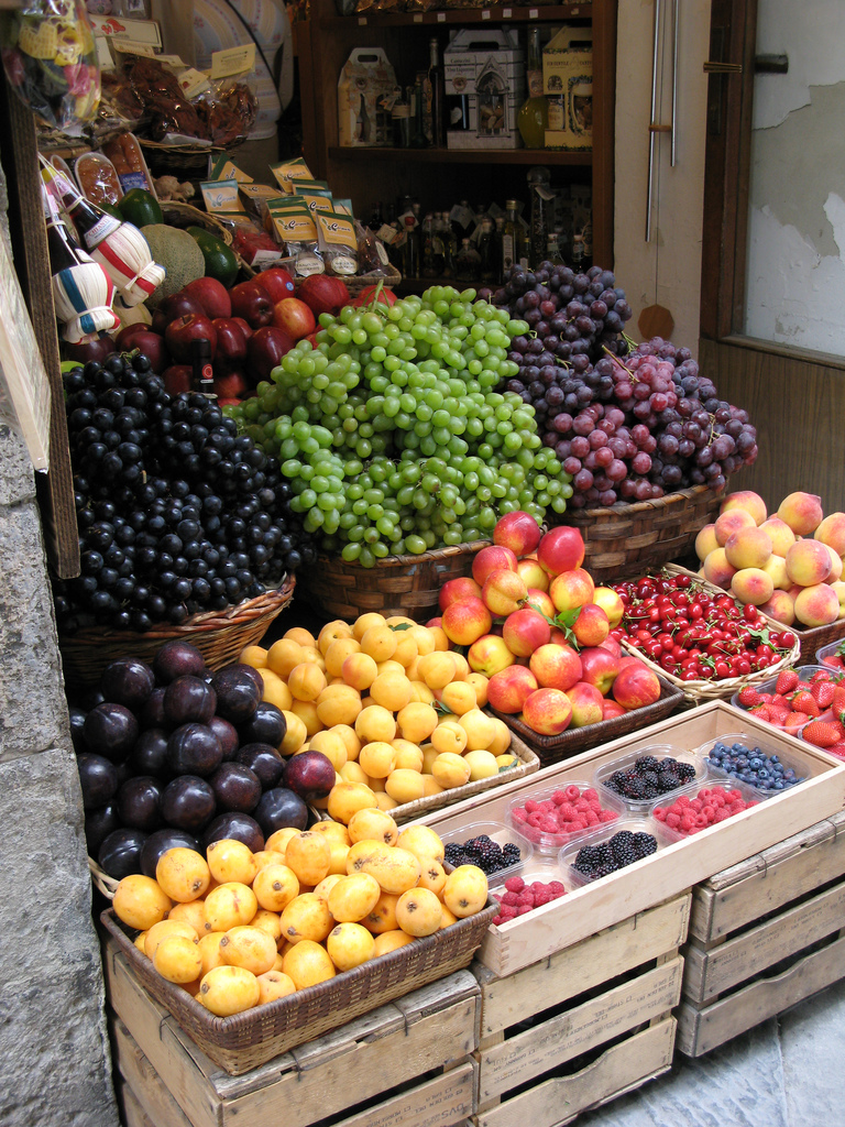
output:
[[[370,149],[393,143],[393,103],[401,90],[381,47],[356,47],[337,83],[338,144]]]

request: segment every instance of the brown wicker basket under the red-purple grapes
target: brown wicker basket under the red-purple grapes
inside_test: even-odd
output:
[[[596,584],[616,583],[691,552],[699,532],[715,520],[723,498],[723,492],[694,486],[634,505],[567,509],[558,523],[580,531],[586,545],[584,567]]]

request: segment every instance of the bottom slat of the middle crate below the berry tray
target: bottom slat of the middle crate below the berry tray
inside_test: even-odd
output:
[[[563,1127],[671,1066],[675,1019],[642,1029],[579,1072],[554,1076],[473,1116],[474,1127]]]

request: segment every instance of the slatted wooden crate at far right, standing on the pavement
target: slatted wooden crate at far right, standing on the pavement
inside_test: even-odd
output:
[[[845,814],[693,890],[678,1047],[701,1056],[845,975]]]

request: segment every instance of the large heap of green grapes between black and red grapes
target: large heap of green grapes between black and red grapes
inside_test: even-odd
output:
[[[300,340],[226,411],[278,459],[291,508],[329,554],[373,567],[484,539],[502,514],[542,523],[572,495],[534,408],[493,391],[526,331],[474,290],[345,305],[321,314],[317,347]]]

